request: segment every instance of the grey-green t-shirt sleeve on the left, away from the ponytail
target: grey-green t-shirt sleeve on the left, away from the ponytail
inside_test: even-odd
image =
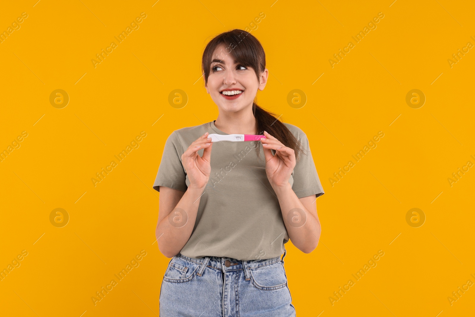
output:
[[[183,147],[178,134],[173,131],[163,148],[160,166],[153,183],[154,190],[160,192],[159,186],[164,186],[186,192],[188,186],[186,171],[181,164],[181,154],[183,154]]]

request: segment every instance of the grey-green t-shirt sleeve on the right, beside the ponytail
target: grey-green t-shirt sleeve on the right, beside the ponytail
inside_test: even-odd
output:
[[[310,144],[306,134],[303,134],[300,138],[302,147],[304,148],[304,154],[301,155],[298,162],[295,163],[294,183],[292,189],[298,198],[315,195],[319,197],[325,192],[323,191],[322,184],[318,177],[317,170],[315,168],[312,152],[310,151]]]

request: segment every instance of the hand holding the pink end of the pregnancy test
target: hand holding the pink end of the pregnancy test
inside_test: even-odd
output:
[[[295,152],[272,135],[264,131],[265,140],[261,140],[266,157],[266,174],[273,188],[284,187],[289,183],[295,167]],[[271,149],[276,151],[272,155]]]

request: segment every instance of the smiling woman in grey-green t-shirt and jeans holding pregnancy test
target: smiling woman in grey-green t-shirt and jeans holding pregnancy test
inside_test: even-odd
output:
[[[315,249],[315,197],[324,193],[308,139],[254,102],[268,70],[253,35],[219,34],[206,46],[202,68],[218,118],[168,137],[153,184],[160,192],[158,246],[172,258],[160,314],[295,316],[284,244],[292,239],[305,253]],[[212,149],[209,134],[265,137]]]

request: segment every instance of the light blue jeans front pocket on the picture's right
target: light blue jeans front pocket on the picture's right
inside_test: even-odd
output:
[[[251,283],[262,290],[285,288],[287,277],[281,261],[258,268],[249,268]]]

